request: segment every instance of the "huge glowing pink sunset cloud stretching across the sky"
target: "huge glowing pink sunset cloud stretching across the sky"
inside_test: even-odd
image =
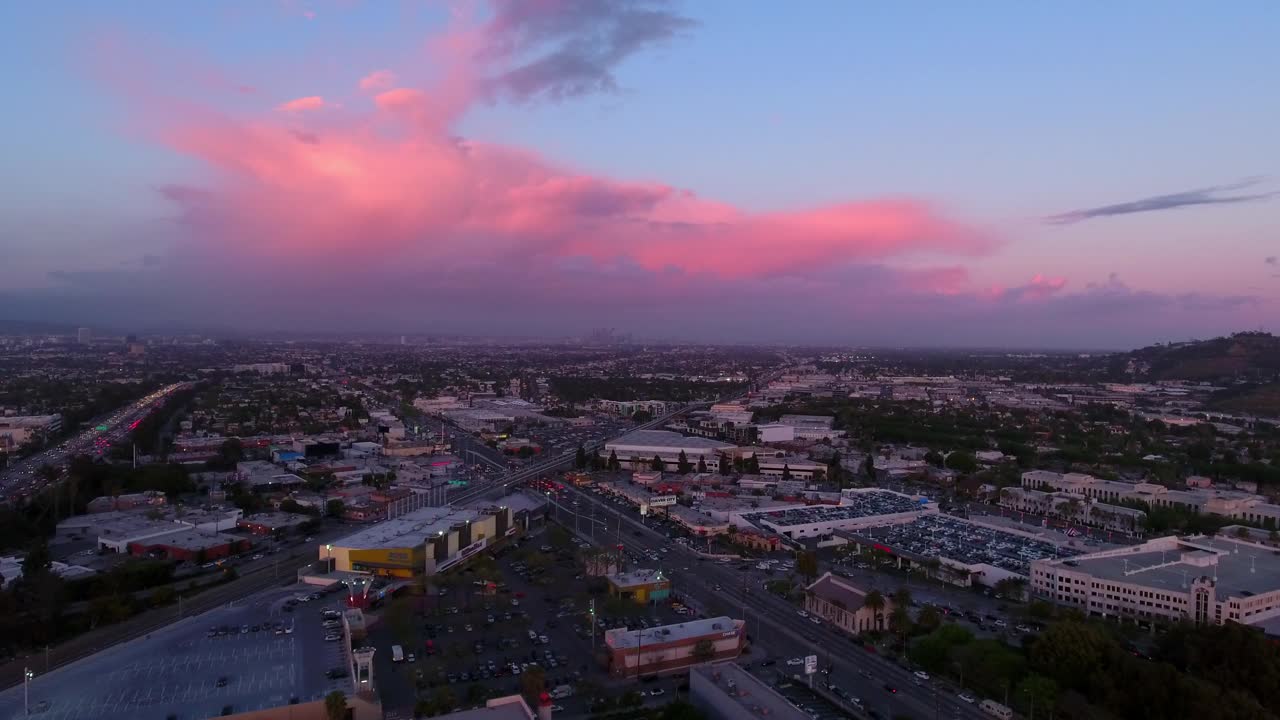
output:
[[[430,40],[436,81],[394,87],[390,70],[362,78],[360,88],[372,94],[364,110],[348,104],[337,111],[311,96],[279,106],[294,115],[288,120],[270,113],[244,119],[148,102],[156,136],[215,170],[198,188],[165,191],[193,238],[184,251],[206,260],[291,256],[308,272],[352,272],[376,258],[470,277],[479,266],[518,263],[530,277],[571,287],[609,270],[649,287],[664,278],[686,295],[698,283],[758,282],[774,292],[838,297],[847,291],[831,279],[833,269],[920,254],[974,258],[1000,242],[920,199],[755,213],[673,183],[584,173],[526,149],[458,138],[460,119],[493,97],[493,78],[520,68],[530,53],[575,45],[602,27],[632,28],[640,45],[684,27],[664,17],[637,29],[643,20],[618,9],[626,3],[591,3],[573,18],[552,12],[558,4],[499,5],[481,24],[456,15]],[[598,65],[593,77],[605,83],[600,78],[612,77],[612,68]],[[571,95],[576,86],[562,79],[547,76],[518,94]],[[335,111],[312,117],[319,109]],[[891,277],[916,293],[954,295],[968,286],[960,268]]]

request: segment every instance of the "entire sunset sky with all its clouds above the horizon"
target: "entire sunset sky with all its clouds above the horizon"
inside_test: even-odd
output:
[[[0,320],[1280,332],[1280,5],[0,5]]]

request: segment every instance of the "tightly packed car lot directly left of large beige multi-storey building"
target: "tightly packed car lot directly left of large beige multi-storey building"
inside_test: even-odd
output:
[[[988,564],[1023,577],[1030,574],[1033,560],[1079,555],[1070,547],[941,514],[923,515],[900,525],[868,528],[859,534],[922,557],[941,556],[966,565]]]

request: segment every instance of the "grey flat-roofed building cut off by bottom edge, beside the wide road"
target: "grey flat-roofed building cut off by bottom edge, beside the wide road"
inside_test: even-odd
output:
[[[763,680],[736,662],[695,665],[689,670],[689,702],[710,720],[809,720]]]

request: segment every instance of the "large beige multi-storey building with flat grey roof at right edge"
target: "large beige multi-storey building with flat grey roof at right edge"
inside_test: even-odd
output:
[[[1280,556],[1256,542],[1162,537],[1032,562],[1036,597],[1101,618],[1198,625],[1280,620]]]

